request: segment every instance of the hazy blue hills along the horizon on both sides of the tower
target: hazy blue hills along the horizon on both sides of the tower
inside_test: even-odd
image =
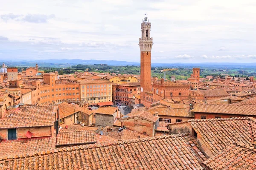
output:
[[[22,61],[4,61],[0,60],[0,65],[5,62],[7,66],[20,66],[20,67],[31,67],[35,66],[36,63],[40,67],[55,67],[64,68],[72,65],[93,65],[93,64],[107,64],[107,65],[140,65],[140,62],[128,62],[128,61],[116,61],[116,60],[96,60],[96,59],[46,59],[46,60],[22,60]],[[232,62],[214,62],[214,63],[152,63],[152,67],[216,67],[216,66],[249,66],[255,67],[256,63],[232,63]]]

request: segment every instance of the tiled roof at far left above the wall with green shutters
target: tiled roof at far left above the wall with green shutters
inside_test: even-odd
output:
[[[53,126],[58,106],[22,107],[6,111],[0,119],[0,129]]]

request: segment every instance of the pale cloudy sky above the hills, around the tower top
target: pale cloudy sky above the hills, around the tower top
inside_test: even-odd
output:
[[[0,0],[0,59],[256,62],[255,0]]]

